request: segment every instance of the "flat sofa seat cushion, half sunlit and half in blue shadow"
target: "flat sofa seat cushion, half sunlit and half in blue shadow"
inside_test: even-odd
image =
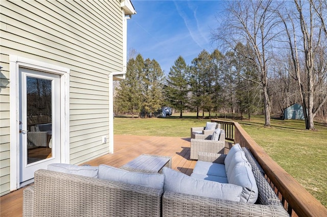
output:
[[[216,164],[214,162],[204,162],[201,160],[196,162],[193,173],[220,176],[225,178],[227,177],[225,172],[225,165]]]

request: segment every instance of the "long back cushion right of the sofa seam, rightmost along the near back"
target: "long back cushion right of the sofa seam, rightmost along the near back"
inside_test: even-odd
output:
[[[241,186],[195,179],[167,167],[164,167],[162,173],[165,175],[164,191],[240,201],[242,193]]]

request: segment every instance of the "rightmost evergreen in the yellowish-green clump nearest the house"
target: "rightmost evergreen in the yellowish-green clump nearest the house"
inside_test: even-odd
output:
[[[164,73],[157,61],[145,60],[145,101],[144,110],[150,117],[162,106]]]

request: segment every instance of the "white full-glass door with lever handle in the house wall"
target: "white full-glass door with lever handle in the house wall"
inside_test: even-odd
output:
[[[60,76],[19,68],[19,182],[60,162]]]

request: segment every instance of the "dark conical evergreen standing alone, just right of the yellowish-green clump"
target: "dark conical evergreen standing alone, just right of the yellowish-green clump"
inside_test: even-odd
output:
[[[179,110],[179,118],[183,118],[182,113],[188,102],[188,79],[189,67],[185,60],[179,56],[174,65],[170,68],[167,84],[165,86],[166,96],[170,104]]]

